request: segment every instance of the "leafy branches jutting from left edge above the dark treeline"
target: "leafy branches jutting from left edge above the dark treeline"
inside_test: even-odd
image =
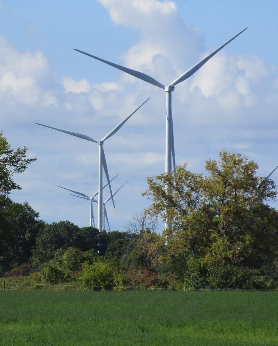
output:
[[[11,190],[20,190],[21,187],[12,180],[14,173],[22,173],[27,165],[36,158],[26,158],[27,148],[10,148],[3,131],[0,131],[0,192],[9,193]]]

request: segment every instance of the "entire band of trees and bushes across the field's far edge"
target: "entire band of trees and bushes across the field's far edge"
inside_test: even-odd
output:
[[[0,132],[0,276],[7,282],[83,288],[278,288],[278,212],[268,202],[275,183],[240,154],[219,153],[208,176],[186,164],[149,177],[149,210],[125,231],[106,232],[69,221],[46,224],[28,203],[7,194],[28,163]],[[166,212],[165,212],[166,211]],[[155,218],[171,224],[155,232]]]

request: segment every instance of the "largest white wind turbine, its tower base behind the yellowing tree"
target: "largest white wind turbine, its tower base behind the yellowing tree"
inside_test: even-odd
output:
[[[102,61],[110,66],[116,67],[116,69],[124,71],[128,74],[133,75],[134,77],[137,77],[139,79],[142,79],[145,82],[148,82],[150,84],[156,85],[159,88],[162,88],[166,91],[166,149],[165,149],[165,172],[168,174],[171,174],[172,172],[172,160],[173,160],[173,167],[174,171],[176,171],[176,159],[175,159],[175,149],[174,149],[174,132],[173,132],[173,120],[172,120],[172,92],[175,89],[175,85],[185,81],[187,78],[192,76],[195,72],[197,72],[200,67],[202,67],[210,58],[212,58],[217,52],[219,52],[223,47],[225,47],[228,43],[230,43],[233,39],[235,39],[237,36],[239,36],[243,31],[245,31],[247,28],[244,30],[240,31],[237,35],[235,35],[233,38],[228,40],[226,43],[224,43],[222,46],[217,48],[214,52],[210,53],[207,57],[199,61],[196,65],[192,66],[189,70],[187,70],[185,73],[180,75],[177,79],[175,79],[173,82],[171,82],[169,85],[164,85],[151,76],[136,71],[129,69],[125,66],[121,66],[115,63],[112,63],[110,61],[101,59],[95,55],[91,55],[89,53],[80,51],[79,49],[75,49],[75,51],[86,54],[94,59],[97,59],[99,61]],[[165,223],[165,228],[171,227],[171,223],[166,222]]]

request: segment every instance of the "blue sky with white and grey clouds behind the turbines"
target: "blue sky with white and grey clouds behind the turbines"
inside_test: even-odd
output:
[[[47,222],[88,225],[86,201],[55,185],[95,192],[97,146],[35,122],[98,139],[151,96],[105,147],[110,175],[119,173],[113,190],[130,179],[116,210],[107,205],[110,226],[122,230],[150,203],[141,196],[146,177],[164,170],[165,95],[72,48],[167,84],[246,26],[177,86],[176,160],[204,172],[205,160],[227,149],[266,175],[278,164],[277,11],[276,1],[1,1],[1,128],[13,147],[37,157],[10,197]]]

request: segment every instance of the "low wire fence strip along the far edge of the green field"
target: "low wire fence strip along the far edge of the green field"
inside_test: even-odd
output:
[[[94,285],[80,285],[80,284],[49,284],[49,283],[22,283],[22,282],[7,282],[3,279],[2,282],[3,291],[278,291],[278,289],[268,288],[249,288],[249,289],[237,289],[237,288],[217,288],[217,289],[205,289],[205,288],[156,288],[154,286],[149,287],[129,287],[129,286],[94,286]]]

